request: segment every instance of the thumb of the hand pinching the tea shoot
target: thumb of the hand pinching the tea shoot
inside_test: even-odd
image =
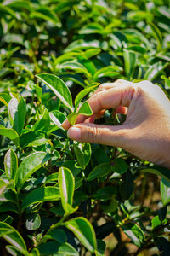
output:
[[[123,146],[128,140],[129,128],[124,124],[109,126],[83,123],[71,126],[67,135],[72,140],[81,143],[99,143],[124,148]]]

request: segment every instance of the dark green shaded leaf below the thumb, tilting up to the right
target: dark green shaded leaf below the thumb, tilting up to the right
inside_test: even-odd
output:
[[[111,164],[110,163],[103,163],[103,164],[100,164],[99,166],[95,166],[94,169],[92,170],[92,172],[90,172],[88,174],[87,179],[88,179],[88,181],[92,181],[96,177],[106,176],[111,171],[112,171],[111,170]]]

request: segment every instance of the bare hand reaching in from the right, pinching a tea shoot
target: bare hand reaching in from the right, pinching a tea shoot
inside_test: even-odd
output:
[[[62,124],[68,137],[82,143],[100,143],[125,149],[156,165],[170,168],[170,101],[161,88],[149,81],[117,80],[101,84],[88,99],[94,115],[79,115],[77,124]],[[106,109],[127,114],[122,125],[96,125]]]

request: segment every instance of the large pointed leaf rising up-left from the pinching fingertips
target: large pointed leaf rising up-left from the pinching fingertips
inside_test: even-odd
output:
[[[44,84],[53,90],[54,94],[59,97],[61,102],[63,102],[65,106],[71,110],[71,112],[73,111],[71,92],[63,80],[59,79],[59,77],[53,74],[48,73],[42,73],[36,75],[36,77],[42,80]]]

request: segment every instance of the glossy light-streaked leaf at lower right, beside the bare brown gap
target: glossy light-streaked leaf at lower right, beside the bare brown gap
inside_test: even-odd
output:
[[[144,244],[144,232],[137,224],[127,223],[122,226],[124,233],[133,241],[137,247],[142,247]]]

